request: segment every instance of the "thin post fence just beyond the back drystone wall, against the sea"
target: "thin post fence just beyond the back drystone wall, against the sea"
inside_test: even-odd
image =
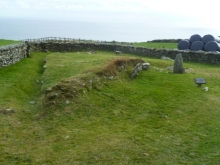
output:
[[[131,42],[117,42],[117,41],[99,41],[99,40],[85,40],[74,38],[61,38],[61,37],[45,37],[38,39],[25,39],[23,42],[55,42],[55,43],[93,43],[93,44],[109,44],[109,45],[126,45],[133,46]]]

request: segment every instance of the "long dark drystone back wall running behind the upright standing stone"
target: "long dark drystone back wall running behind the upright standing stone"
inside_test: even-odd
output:
[[[89,50],[121,51],[122,53],[135,54],[144,57],[161,58],[163,56],[175,59],[177,54],[182,54],[184,62],[199,62],[220,65],[220,54],[215,52],[153,49],[145,47],[121,46],[113,44],[89,43],[30,43],[31,51],[74,52]]]

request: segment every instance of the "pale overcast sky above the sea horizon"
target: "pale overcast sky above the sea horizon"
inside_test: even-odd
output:
[[[219,0],[0,0],[0,17],[145,21],[220,28]]]

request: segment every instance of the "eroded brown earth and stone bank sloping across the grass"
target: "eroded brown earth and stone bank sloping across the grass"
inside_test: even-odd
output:
[[[106,81],[114,79],[120,72],[126,71],[127,76],[130,77],[134,66],[143,62],[140,58],[117,58],[108,61],[106,66],[83,71],[81,77],[71,77],[48,88],[43,103],[45,105],[55,105],[65,101],[68,103],[69,100],[75,100],[78,95],[91,89],[101,90],[106,85]]]

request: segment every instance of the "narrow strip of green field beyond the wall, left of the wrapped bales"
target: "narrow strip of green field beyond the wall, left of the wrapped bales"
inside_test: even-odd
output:
[[[133,46],[142,46],[157,49],[177,49],[178,43],[155,43],[155,42],[135,42]]]

